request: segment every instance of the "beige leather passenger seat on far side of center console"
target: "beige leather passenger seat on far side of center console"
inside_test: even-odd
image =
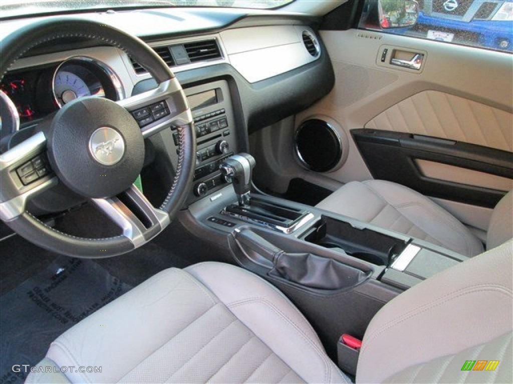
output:
[[[405,233],[467,257],[483,243],[449,212],[413,189],[384,180],[352,181],[321,201],[318,208]],[[497,204],[487,232],[491,249],[513,237],[513,193]]]

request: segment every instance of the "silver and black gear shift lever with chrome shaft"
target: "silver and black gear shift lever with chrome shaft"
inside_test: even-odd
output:
[[[251,172],[255,166],[255,159],[247,153],[230,156],[219,165],[221,173],[227,181],[231,179],[233,189],[237,195],[239,205],[249,205],[249,191],[251,189]]]

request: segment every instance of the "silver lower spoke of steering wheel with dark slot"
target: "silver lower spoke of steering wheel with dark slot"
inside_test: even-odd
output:
[[[147,243],[170,222],[167,212],[151,205],[135,185],[122,194],[92,202],[123,230],[135,248]]]

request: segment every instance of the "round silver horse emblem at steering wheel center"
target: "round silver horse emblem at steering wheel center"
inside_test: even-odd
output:
[[[119,163],[125,154],[125,140],[119,132],[104,126],[91,135],[89,152],[98,163],[114,165]]]

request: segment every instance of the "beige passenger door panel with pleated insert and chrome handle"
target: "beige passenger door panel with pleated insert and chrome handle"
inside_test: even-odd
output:
[[[502,153],[500,157],[513,159],[513,61],[510,54],[366,30],[321,31],[321,36],[332,60],[336,84],[328,96],[296,116],[295,127],[309,116],[328,116],[342,127],[350,146],[347,161],[340,169],[317,174],[311,178],[312,182],[319,177],[341,183],[372,178],[351,136],[351,130],[355,129],[449,139],[458,144],[494,149]],[[384,66],[381,62],[383,47],[424,52],[422,70]],[[380,159],[384,168],[393,166],[392,159],[400,156],[400,151],[392,151],[387,156]],[[423,160],[447,164],[447,159],[443,162],[430,157]],[[443,170],[445,178],[455,170],[450,166],[463,167],[467,173],[467,169],[485,174],[490,171],[487,166],[467,168],[468,163],[463,160],[449,162],[449,167]],[[433,164],[424,163],[423,170],[418,164],[412,166],[421,178],[437,179],[432,173]],[[393,169],[391,171],[393,173]],[[298,174],[306,180],[311,175],[303,171]],[[445,208],[470,226],[486,229],[491,209],[483,206],[492,206],[503,194],[504,185],[513,178],[513,169],[506,166],[499,174],[503,178],[500,190],[495,181],[486,181],[493,177],[483,179],[480,174],[467,177],[464,183],[460,178],[456,180],[459,183],[444,180],[431,189],[423,190],[419,185],[416,189],[428,196],[438,196]],[[479,182],[472,182],[478,179]],[[488,183],[484,188],[483,180]],[[479,207],[475,200],[455,199],[454,194],[445,193],[448,184],[466,189],[467,196],[481,188],[494,197],[486,204],[481,200]],[[433,190],[437,193],[433,194]]]

